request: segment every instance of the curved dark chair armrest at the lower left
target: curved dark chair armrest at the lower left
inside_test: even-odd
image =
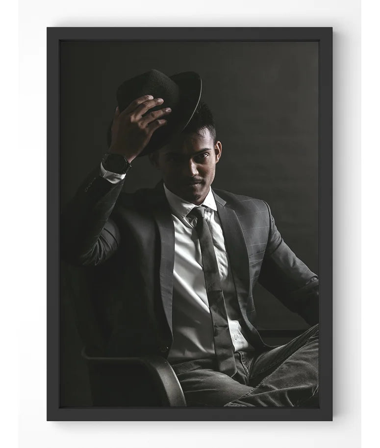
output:
[[[82,356],[89,365],[141,365],[147,369],[154,383],[157,385],[157,391],[166,406],[186,406],[185,397],[178,378],[174,373],[172,366],[162,356],[150,355],[142,357],[102,357],[88,356],[85,348],[82,350]]]

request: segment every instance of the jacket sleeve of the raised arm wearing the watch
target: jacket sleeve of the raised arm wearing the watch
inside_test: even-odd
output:
[[[76,265],[98,265],[120,245],[120,232],[110,218],[124,180],[112,184],[90,173],[61,214],[61,258]]]

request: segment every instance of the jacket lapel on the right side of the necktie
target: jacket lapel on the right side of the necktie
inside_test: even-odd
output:
[[[244,320],[247,318],[246,307],[250,287],[250,271],[247,245],[243,230],[236,212],[228,206],[226,201],[213,191],[219,219],[223,229],[231,272],[236,288],[239,307]]]

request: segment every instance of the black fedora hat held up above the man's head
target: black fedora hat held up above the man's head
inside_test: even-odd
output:
[[[136,98],[153,95],[153,98],[163,98],[164,103],[149,109],[147,114],[170,107],[172,112],[166,115],[167,124],[155,130],[144,150],[139,154],[144,156],[165,145],[174,135],[182,132],[198,106],[202,92],[201,76],[195,71],[185,71],[167,76],[158,70],[150,70],[124,81],[117,89],[116,99],[120,112]],[[107,143],[111,144],[111,124],[108,127]]]

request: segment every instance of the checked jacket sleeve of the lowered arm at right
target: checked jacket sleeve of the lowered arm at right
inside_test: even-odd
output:
[[[318,276],[286,245],[266,206],[269,236],[258,282],[309,325],[315,325],[319,321]]]

